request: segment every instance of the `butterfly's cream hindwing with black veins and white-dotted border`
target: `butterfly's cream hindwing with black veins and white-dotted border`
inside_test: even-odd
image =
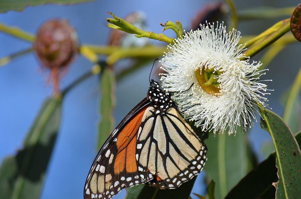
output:
[[[175,108],[164,114],[146,109],[137,138],[139,174],[149,171],[150,186],[177,188],[196,176],[206,161],[206,145]]]

